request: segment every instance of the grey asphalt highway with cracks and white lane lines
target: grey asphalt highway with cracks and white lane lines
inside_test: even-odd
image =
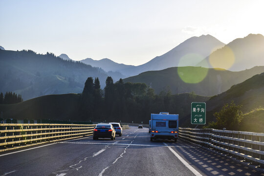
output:
[[[232,159],[178,139],[150,141],[147,128],[116,140],[84,137],[0,153],[0,176],[264,176]]]

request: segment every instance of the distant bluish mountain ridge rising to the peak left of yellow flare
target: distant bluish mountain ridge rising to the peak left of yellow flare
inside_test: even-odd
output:
[[[112,70],[120,72],[125,76],[133,76],[144,71],[162,70],[172,66],[196,66],[212,51],[224,45],[211,35],[202,35],[199,37],[191,37],[167,53],[157,56],[140,66],[118,64],[110,59],[95,61],[87,58],[81,60],[81,62],[91,66],[101,67],[106,71]]]

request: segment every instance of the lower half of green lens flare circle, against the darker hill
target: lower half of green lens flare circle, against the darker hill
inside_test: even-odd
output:
[[[183,66],[177,69],[180,79],[185,83],[196,84],[201,82],[208,73],[208,68]]]

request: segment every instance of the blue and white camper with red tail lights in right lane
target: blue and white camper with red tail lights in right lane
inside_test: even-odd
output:
[[[169,114],[169,112],[160,112],[151,114],[150,120],[150,140],[154,139],[172,139],[174,142],[178,139],[179,115]]]

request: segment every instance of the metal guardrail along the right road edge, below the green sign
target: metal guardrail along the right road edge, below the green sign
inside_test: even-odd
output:
[[[264,168],[264,133],[179,128],[179,137]]]

